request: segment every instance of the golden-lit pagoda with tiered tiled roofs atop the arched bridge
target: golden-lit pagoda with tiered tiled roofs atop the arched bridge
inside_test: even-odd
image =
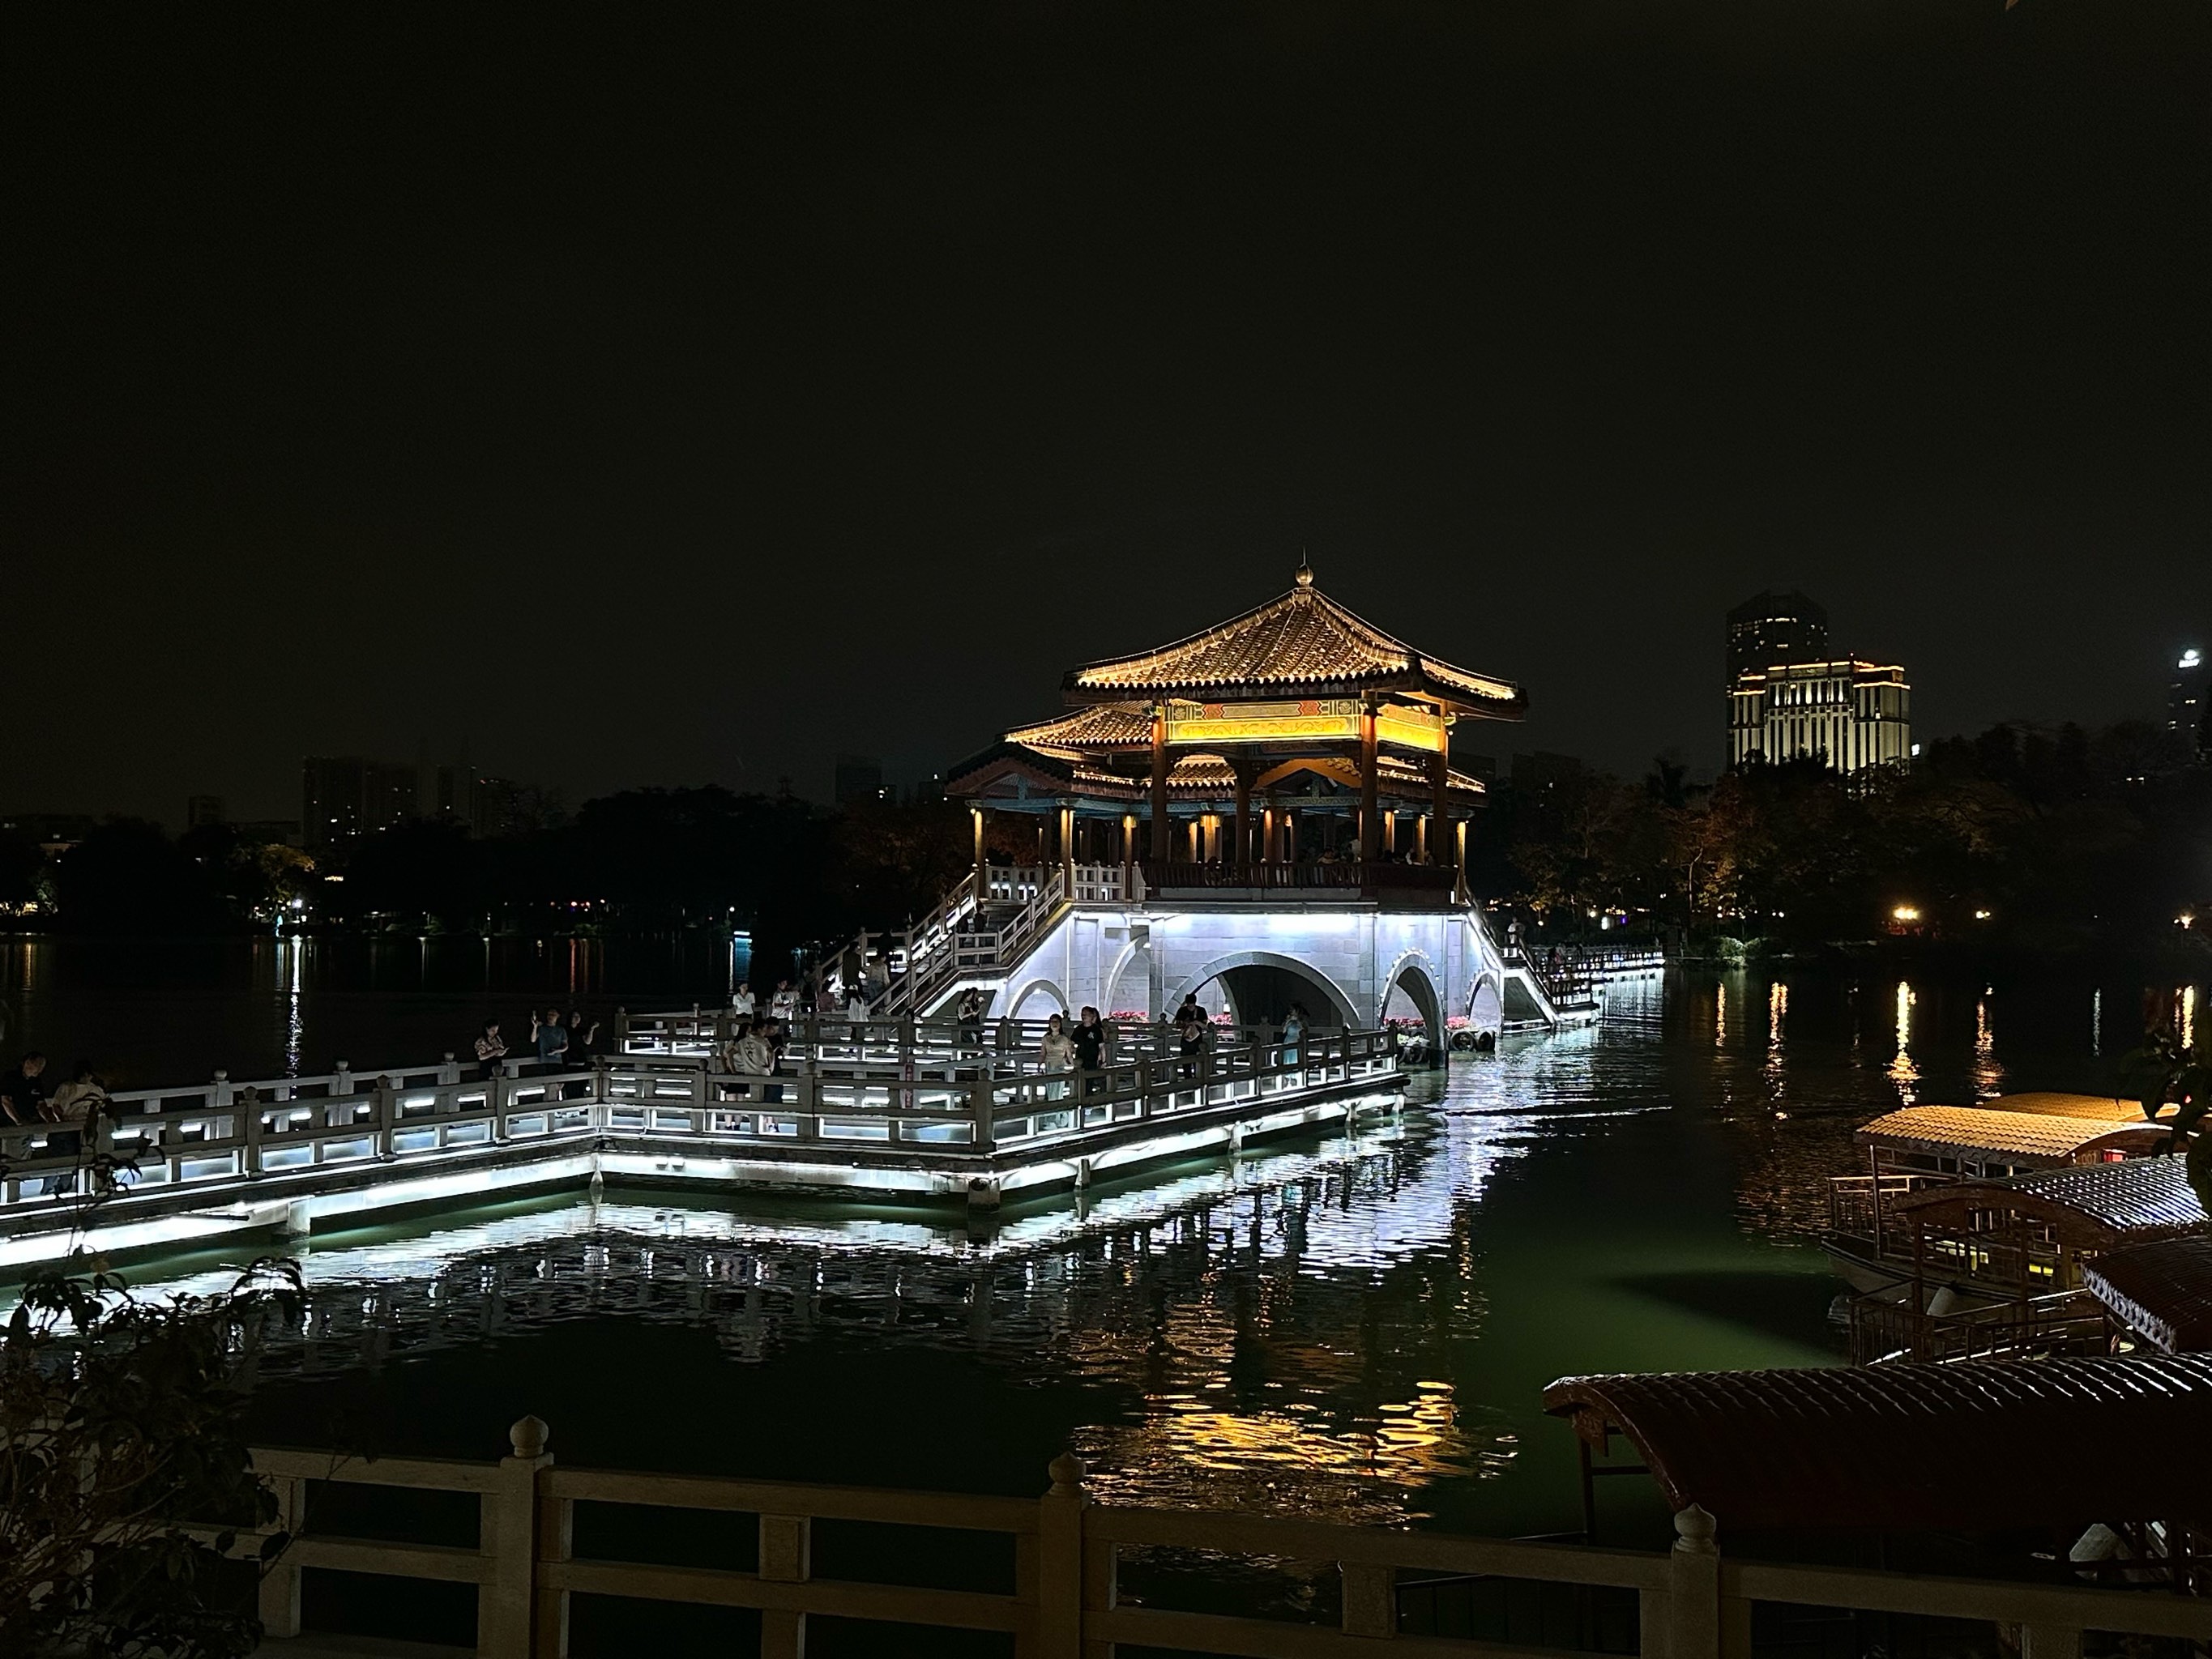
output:
[[[1075,668],[1062,692],[1071,712],[947,776],[975,807],[978,863],[984,812],[1044,814],[1040,863],[1141,860],[1152,887],[1451,889],[1482,803],[1451,770],[1451,728],[1526,710],[1520,686],[1394,639],[1303,564],[1290,593]]]

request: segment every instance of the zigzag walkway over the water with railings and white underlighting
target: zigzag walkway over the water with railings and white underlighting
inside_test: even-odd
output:
[[[1217,1026],[1192,1057],[1133,1026],[1097,1071],[1044,1071],[1042,1026],[803,1022],[776,1075],[728,1071],[712,1015],[641,1015],[593,1068],[436,1066],[131,1091],[73,1150],[0,1128],[0,1267],[613,1177],[812,1186],[995,1208],[1004,1194],[1234,1148],[1400,1099],[1385,1031]],[[467,1071],[476,1071],[469,1066]],[[64,1188],[64,1190],[55,1190]],[[100,1192],[91,1201],[91,1192]]]

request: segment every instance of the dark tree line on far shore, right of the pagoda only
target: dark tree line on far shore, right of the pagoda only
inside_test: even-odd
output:
[[[1566,931],[1626,914],[1785,947],[2137,945],[2212,902],[2212,768],[2126,723],[1993,726],[1860,779],[1818,759],[1710,787],[1670,761],[1637,781],[1573,772],[1493,796],[1471,876]]]

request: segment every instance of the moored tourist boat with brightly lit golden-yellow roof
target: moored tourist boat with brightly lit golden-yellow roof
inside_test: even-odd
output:
[[[2008,1102],[2079,1102],[2077,1110]],[[1893,1210],[1927,1188],[1958,1181],[2002,1181],[2033,1170],[2117,1164],[2166,1146],[2163,1124],[2126,1121],[2095,1095],[2011,1095],[1989,1106],[1905,1106],[1876,1117],[1856,1135],[1865,1175],[1827,1183],[1827,1254],[1836,1276],[1871,1296],[1898,1296],[1911,1276],[1909,1239]]]

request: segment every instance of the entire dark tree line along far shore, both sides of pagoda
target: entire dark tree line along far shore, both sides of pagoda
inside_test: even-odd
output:
[[[969,834],[958,803],[825,812],[719,785],[622,790],[482,841],[405,823],[316,854],[111,818],[53,858],[0,841],[0,907],[66,931],[745,927],[757,949],[792,949],[927,914],[969,867]],[[1022,825],[993,818],[1000,836],[1033,856]],[[1938,938],[2132,945],[2212,909],[2212,768],[2130,723],[1995,726],[1860,779],[1812,759],[1710,787],[1672,761],[1566,772],[1493,792],[1469,876],[1568,938],[1626,916],[1798,947],[1900,931],[1911,911],[1905,931]]]

